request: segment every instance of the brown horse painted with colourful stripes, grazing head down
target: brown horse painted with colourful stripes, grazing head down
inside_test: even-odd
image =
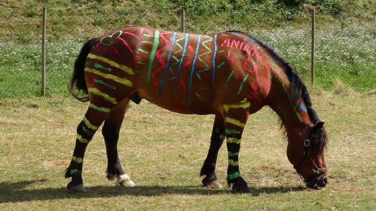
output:
[[[305,84],[273,48],[246,33],[197,35],[143,26],[115,30],[83,45],[70,91],[80,101],[90,101],[65,172],[72,178],[67,185],[72,192],[86,191],[81,176],[85,149],[103,122],[107,178],[135,185],[121,167],[117,142],[129,101],[139,104],[141,99],[172,112],[215,115],[200,173],[204,185],[221,187],[214,170],[226,138],[227,183],[235,192],[252,193],[239,172],[238,155],[249,114],[265,105],[285,127],[287,157],[307,187],[327,184],[327,136]]]

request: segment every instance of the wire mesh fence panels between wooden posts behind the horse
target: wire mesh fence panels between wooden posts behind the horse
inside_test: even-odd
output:
[[[77,11],[75,11],[77,13]],[[29,11],[30,13],[30,11]],[[41,95],[42,10],[25,16],[12,16],[0,10],[0,97]],[[127,25],[144,25],[162,30],[182,30],[180,10],[168,12],[121,11],[98,13],[47,9],[46,14],[46,94],[68,94],[67,81],[74,60],[88,38]],[[16,14],[16,13],[14,13]],[[248,32],[268,43],[296,66],[306,84],[311,80],[311,16],[294,26],[292,23],[274,29],[257,26],[257,14],[244,21],[230,22],[220,17],[200,20],[185,14],[185,32],[214,33],[226,30]],[[252,23],[252,24],[250,24]],[[290,23],[290,22],[288,22]],[[337,17],[328,25],[316,23],[315,86],[332,89],[337,81],[357,91],[376,88],[374,63],[375,26],[372,23],[351,24],[348,17]],[[372,44],[373,43],[373,44]]]

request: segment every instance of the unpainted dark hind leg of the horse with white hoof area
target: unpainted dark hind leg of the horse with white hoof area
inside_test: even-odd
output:
[[[135,184],[130,180],[121,167],[117,143],[119,139],[119,132],[121,124],[123,123],[124,115],[129,103],[129,98],[120,102],[108,114],[105,124],[103,124],[102,134],[105,138],[106,152],[107,152],[107,178],[109,180],[117,178],[116,184],[120,186],[134,186]]]

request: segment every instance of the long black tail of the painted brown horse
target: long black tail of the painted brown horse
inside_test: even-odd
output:
[[[71,78],[70,86],[68,86],[69,92],[81,102],[89,101],[89,96],[87,95],[88,87],[86,86],[84,68],[86,57],[88,57],[88,54],[96,40],[97,38],[89,39],[85,43],[85,45],[83,45],[80,53],[78,54],[76,62],[74,62],[73,75]],[[78,91],[77,93],[76,90]],[[84,96],[79,96],[81,92],[84,93]]]

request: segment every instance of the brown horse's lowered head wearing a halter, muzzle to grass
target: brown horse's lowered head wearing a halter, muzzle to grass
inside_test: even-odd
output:
[[[309,123],[297,140],[288,143],[287,157],[308,188],[325,187],[327,169],[324,149],[327,142],[324,122]]]

